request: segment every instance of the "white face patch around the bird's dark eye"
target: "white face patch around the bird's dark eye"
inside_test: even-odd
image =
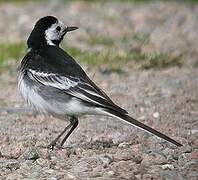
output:
[[[57,28],[60,27],[60,30]],[[62,35],[63,35],[63,30],[65,29],[65,25],[61,22],[58,21],[54,24],[51,25],[47,30],[45,30],[45,38],[47,41],[48,45],[55,46],[53,43],[54,40],[60,40]]]

